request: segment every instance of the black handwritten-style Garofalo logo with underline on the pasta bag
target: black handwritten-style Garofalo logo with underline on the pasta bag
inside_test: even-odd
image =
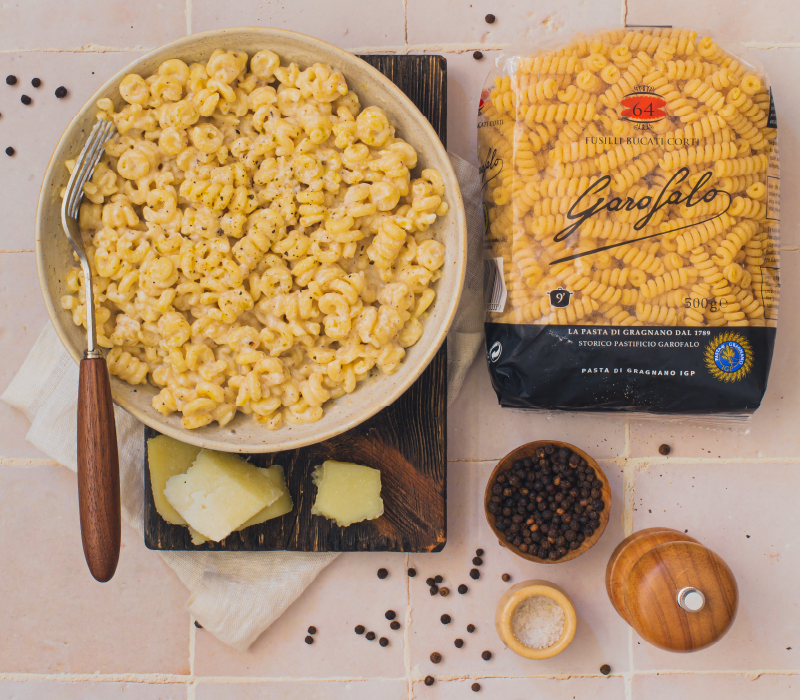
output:
[[[567,226],[562,231],[559,231],[554,237],[553,241],[560,242],[564,241],[569,238],[573,233],[575,233],[584,223],[586,223],[589,219],[593,216],[596,216],[600,212],[603,211],[634,211],[639,210],[643,212],[640,219],[636,221],[633,225],[634,230],[641,231],[645,226],[647,226],[656,215],[656,212],[660,211],[664,207],[670,205],[683,205],[687,208],[691,208],[697,206],[701,202],[709,203],[713,202],[717,197],[727,197],[728,201],[721,212],[714,214],[713,216],[709,216],[707,219],[703,221],[695,221],[694,223],[687,224],[686,226],[680,226],[675,229],[670,229],[668,231],[659,231],[658,233],[653,233],[648,236],[642,236],[641,238],[633,238],[625,241],[621,241],[619,243],[612,243],[611,245],[602,246],[600,248],[595,248],[594,250],[586,250],[581,253],[576,253],[575,255],[569,255],[565,258],[559,258],[558,260],[553,260],[551,265],[556,265],[557,263],[566,262],[568,260],[575,260],[576,258],[582,258],[585,255],[591,255],[592,253],[599,253],[603,250],[609,250],[611,248],[617,248],[621,245],[629,245],[631,243],[636,243],[637,241],[644,241],[648,238],[657,238],[658,236],[663,236],[667,233],[672,233],[673,231],[680,231],[684,228],[691,228],[692,226],[699,226],[700,224],[704,224],[707,221],[712,221],[719,216],[722,216],[731,206],[731,196],[724,190],[718,190],[714,187],[706,190],[705,192],[701,192],[703,187],[706,183],[714,176],[714,174],[709,170],[708,172],[703,173],[700,179],[695,183],[694,187],[692,187],[691,192],[689,194],[684,195],[680,190],[673,190],[670,191],[673,187],[677,187],[689,177],[689,168],[681,168],[678,170],[670,179],[670,181],[664,185],[664,188],[659,192],[658,196],[653,199],[650,195],[645,195],[641,199],[634,200],[631,197],[627,197],[623,199],[622,197],[611,197],[607,199],[606,197],[600,197],[594,204],[587,206],[587,200],[592,197],[593,195],[599,195],[601,192],[604,192],[608,189],[609,184],[611,184],[611,176],[604,175],[603,177],[599,178],[596,182],[593,182],[589,187],[586,188],[586,191],[583,192],[581,195],[578,196],[578,199],[575,203],[569,208],[567,212],[567,219],[570,221],[574,221],[574,224]]]

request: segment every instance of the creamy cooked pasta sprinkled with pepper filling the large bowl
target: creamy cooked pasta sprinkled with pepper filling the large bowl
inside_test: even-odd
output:
[[[435,298],[448,204],[383,110],[272,51],[167,60],[119,92],[120,111],[97,104],[119,133],[80,214],[111,374],[160,388],[184,428],[240,411],[277,429],[395,372]],[[66,283],[85,325],[77,268]]]

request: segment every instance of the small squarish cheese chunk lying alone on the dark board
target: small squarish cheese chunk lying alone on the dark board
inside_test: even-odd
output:
[[[347,462],[324,462],[314,470],[317,499],[311,512],[346,527],[383,515],[381,473]]]

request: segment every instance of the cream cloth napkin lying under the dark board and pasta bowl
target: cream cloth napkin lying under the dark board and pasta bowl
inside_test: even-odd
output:
[[[483,221],[480,178],[475,167],[451,154],[468,212],[470,256],[477,247],[480,263]],[[476,190],[477,188],[477,190]],[[470,265],[473,261],[470,260]],[[480,275],[483,274],[481,264]],[[482,277],[481,277],[482,279]],[[474,359],[482,329],[482,286],[475,275],[459,306],[448,336],[448,403],[458,394]],[[477,320],[462,318],[477,314]],[[22,411],[31,422],[26,439],[59,464],[77,470],[78,366],[67,354],[48,323],[27,359],[0,399]],[[114,407],[119,443],[122,517],[143,534],[144,426],[127,411]],[[189,589],[187,607],[201,625],[220,641],[246,650],[337,556],[303,552],[159,552]],[[354,555],[357,556],[357,555]]]

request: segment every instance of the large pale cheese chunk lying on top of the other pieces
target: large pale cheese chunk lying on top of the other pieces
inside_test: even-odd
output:
[[[167,481],[164,494],[191,527],[219,542],[277,501],[281,490],[237,455],[200,450],[186,474]]]

